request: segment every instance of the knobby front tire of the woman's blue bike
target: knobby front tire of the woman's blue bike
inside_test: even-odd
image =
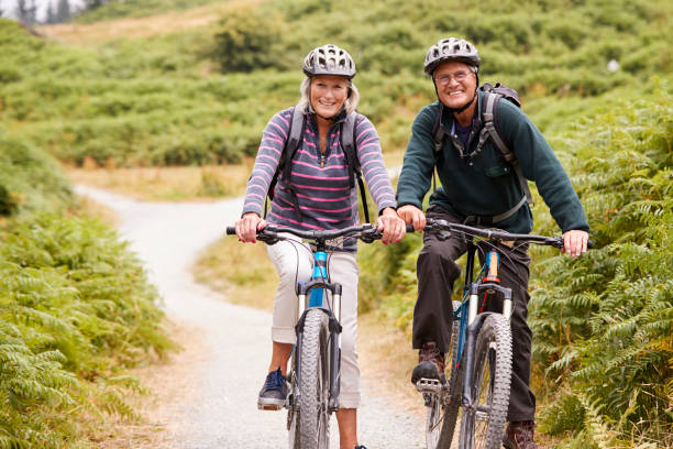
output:
[[[299,385],[299,440],[301,448],[328,448],[329,413],[329,329],[328,316],[309,309],[304,322]]]

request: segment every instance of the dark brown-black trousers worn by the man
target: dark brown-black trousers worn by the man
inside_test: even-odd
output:
[[[460,222],[445,209],[432,206],[428,218],[439,218]],[[500,245],[500,285],[511,288],[512,315],[512,375],[507,419],[532,420],[536,414],[536,396],[529,387],[532,332],[526,322],[528,317],[528,277],[530,256],[528,244],[514,248]],[[479,247],[478,256],[483,260],[486,248]],[[455,263],[467,251],[467,244],[459,234],[439,240],[431,233],[423,234],[423,249],[417,262],[418,299],[413,309],[413,349],[424,342],[434,341],[440,351],[446,353],[451,342],[451,320],[453,314],[451,294],[453,282],[460,276],[461,267]],[[501,310],[501,299],[489,300],[488,308]],[[498,304],[499,303],[499,304]]]

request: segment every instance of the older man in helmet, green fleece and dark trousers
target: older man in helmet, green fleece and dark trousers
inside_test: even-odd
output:
[[[424,70],[431,77],[438,101],[421,109],[412,127],[397,187],[398,215],[417,230],[426,226],[423,197],[434,168],[442,187],[430,199],[428,217],[452,222],[500,228],[527,233],[532,229],[527,184],[533,180],[563,231],[564,251],[577,256],[586,251],[588,225],[571,182],[540,131],[514,103],[497,102],[493,111],[497,136],[512,153],[503,157],[494,138],[479,142],[487,121],[487,95],[478,89],[479,55],[470,42],[445,39],[428,51]],[[435,152],[435,123],[449,139]],[[439,240],[423,237],[418,258],[418,300],[413,310],[413,349],[419,364],[411,382],[444,375],[444,353],[450,346],[451,293],[460,275],[455,260],[465,251],[459,237]],[[536,397],[529,387],[532,332],[528,316],[528,247],[501,248],[500,281],[511,288],[514,313],[512,377],[505,446],[534,449]]]

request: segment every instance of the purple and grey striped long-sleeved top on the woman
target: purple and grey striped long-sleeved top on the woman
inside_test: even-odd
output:
[[[289,135],[291,118],[291,109],[286,109],[275,114],[266,125],[247,180],[243,213],[262,215],[268,186]],[[340,133],[341,127],[334,123],[328,132],[324,166],[320,167],[318,124],[312,114],[307,116],[304,138],[291,160],[291,185],[297,194],[301,220],[297,220],[286,179],[279,174],[267,221],[302,230],[343,229],[357,225],[357,182],[353,188],[350,187]],[[380,154],[378,134],[372,122],[360,113],[355,119],[355,145],[364,180],[378,211],[386,207],[395,208],[395,193]]]

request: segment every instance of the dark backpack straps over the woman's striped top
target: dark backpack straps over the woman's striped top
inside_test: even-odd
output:
[[[290,132],[283,146],[280,160],[278,161],[278,166],[276,167],[276,173],[274,173],[272,182],[268,186],[267,196],[269,199],[274,199],[274,193],[276,189],[276,183],[278,182],[278,175],[283,173],[283,178],[286,179],[287,187],[290,191],[290,195],[293,196],[293,202],[295,204],[295,215],[297,216],[297,219],[301,221],[301,212],[299,211],[299,201],[297,200],[297,193],[290,186],[291,169],[290,164],[288,164],[288,161],[291,161],[293,157],[295,157],[295,153],[297,153],[297,149],[299,147],[299,142],[301,142],[301,136],[306,127],[306,117],[304,112],[297,107],[291,108],[290,111],[293,113],[293,118],[290,121]],[[360,186],[360,198],[362,201],[362,208],[365,215],[366,222],[369,222],[369,210],[367,208],[367,198],[365,196],[364,183],[362,180],[362,169],[360,167],[357,152],[355,151],[356,117],[357,113],[351,112],[341,123],[341,147],[343,149],[345,155],[345,163],[349,167],[350,187],[353,188],[355,186],[353,175],[357,176],[357,185]],[[264,217],[266,217],[267,208],[268,201],[265,201]]]

